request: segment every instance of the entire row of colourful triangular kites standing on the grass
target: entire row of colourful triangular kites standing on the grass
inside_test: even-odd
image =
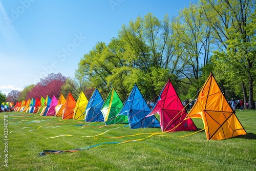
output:
[[[62,119],[105,122],[105,125],[128,123],[130,129],[161,127],[162,132],[196,131],[197,126],[192,118],[201,118],[208,140],[247,134],[212,73],[189,113],[169,79],[152,110],[136,84],[124,103],[112,88],[105,101],[95,89],[89,100],[83,92],[79,94],[77,101],[69,93],[66,99],[61,94],[59,99],[53,95],[52,98],[47,96],[20,101],[13,109],[16,112],[38,113],[41,116],[56,116]],[[156,114],[159,115],[160,121]]]

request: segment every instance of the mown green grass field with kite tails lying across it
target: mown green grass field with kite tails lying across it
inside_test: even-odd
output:
[[[130,130],[124,124],[104,126],[100,122],[60,120],[38,114],[0,113],[0,170],[256,170],[256,111],[237,111],[236,115],[247,135],[208,141],[204,131],[146,138],[149,135],[144,133],[161,133],[160,128]],[[194,121],[203,128],[201,119]],[[98,135],[101,133],[104,134]],[[55,136],[59,137],[51,138]],[[45,149],[63,151],[141,138],[145,139],[39,156]]]

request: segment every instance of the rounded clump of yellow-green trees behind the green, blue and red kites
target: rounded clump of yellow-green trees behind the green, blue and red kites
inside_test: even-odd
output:
[[[103,97],[111,87],[125,100],[135,83],[154,99],[168,78],[177,78],[182,65],[174,52],[172,27],[166,15],[161,22],[152,13],[123,25],[110,44],[99,42],[79,62],[77,74],[86,78]],[[155,99],[156,100],[156,99]]]

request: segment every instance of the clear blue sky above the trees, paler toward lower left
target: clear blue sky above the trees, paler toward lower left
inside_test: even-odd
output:
[[[80,58],[123,24],[148,12],[177,16],[189,2],[0,0],[0,91],[22,91],[52,72],[73,78]]]

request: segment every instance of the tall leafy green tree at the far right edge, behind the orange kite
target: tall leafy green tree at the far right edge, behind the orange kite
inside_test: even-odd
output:
[[[215,31],[214,38],[219,50],[215,52],[217,70],[221,65],[228,74],[225,79],[234,88],[242,86],[244,101],[249,102],[249,109],[253,105],[253,82],[256,76],[255,67],[255,0],[202,0],[206,4],[205,16],[207,22]],[[248,82],[249,100],[246,84]]]

